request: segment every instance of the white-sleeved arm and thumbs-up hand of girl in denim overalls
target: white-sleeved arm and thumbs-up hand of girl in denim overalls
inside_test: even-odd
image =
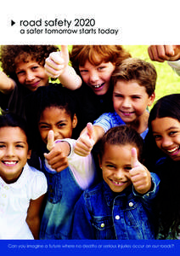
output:
[[[46,165],[51,171],[63,171],[67,166],[76,178],[76,183],[87,189],[93,183],[95,176],[95,164],[91,154],[82,157],[74,152],[76,140],[65,138],[54,142],[53,131],[48,132],[47,148],[50,151],[44,154],[48,163]]]

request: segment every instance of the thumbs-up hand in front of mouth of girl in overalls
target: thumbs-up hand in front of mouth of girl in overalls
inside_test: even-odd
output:
[[[55,143],[53,131],[48,131],[47,148],[50,152],[45,153],[44,157],[47,159],[48,165],[56,172],[63,171],[69,165],[67,156],[70,154],[70,144],[64,141]]]

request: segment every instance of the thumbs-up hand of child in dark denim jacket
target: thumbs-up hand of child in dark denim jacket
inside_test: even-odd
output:
[[[129,172],[134,189],[139,194],[147,193],[151,188],[151,176],[148,169],[138,161],[137,149],[132,148],[132,170]]]

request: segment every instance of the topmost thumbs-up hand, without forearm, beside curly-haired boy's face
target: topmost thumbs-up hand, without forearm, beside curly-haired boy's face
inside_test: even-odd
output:
[[[68,66],[69,51],[67,45],[61,45],[61,51],[52,52],[45,61],[45,70],[48,77],[57,79],[65,72],[65,68]]]

